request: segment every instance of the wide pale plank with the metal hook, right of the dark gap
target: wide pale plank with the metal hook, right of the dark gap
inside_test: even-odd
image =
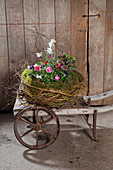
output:
[[[94,95],[103,92],[106,0],[89,2],[89,14],[100,14],[89,17],[89,95]]]

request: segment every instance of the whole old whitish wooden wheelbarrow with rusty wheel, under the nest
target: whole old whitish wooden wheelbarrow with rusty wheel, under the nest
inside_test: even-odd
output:
[[[13,111],[16,116],[14,122],[14,133],[17,140],[27,148],[43,149],[51,145],[58,137],[60,131],[59,115],[80,114],[84,117],[87,125],[92,131],[93,140],[96,141],[96,119],[97,113],[113,110],[113,105],[91,107],[91,101],[105,99],[113,95],[113,90],[93,96],[83,96],[88,103],[87,108],[73,109],[48,109],[36,105],[22,105],[18,97]],[[93,114],[93,123],[89,123],[89,115]]]

